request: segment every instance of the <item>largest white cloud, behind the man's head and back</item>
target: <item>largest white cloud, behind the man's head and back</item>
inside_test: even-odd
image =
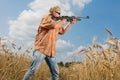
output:
[[[79,6],[83,9],[91,0],[34,0],[29,4],[28,10],[23,10],[22,13],[15,19],[9,20],[9,35],[13,39],[26,40],[35,38],[40,19],[43,15],[49,13],[52,6],[59,5],[62,8],[62,13],[71,15],[72,6]]]

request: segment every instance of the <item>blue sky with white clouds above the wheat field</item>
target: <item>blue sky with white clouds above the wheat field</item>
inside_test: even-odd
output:
[[[69,54],[90,45],[93,37],[104,43],[108,37],[105,28],[120,37],[119,0],[1,0],[0,37],[6,36],[16,42],[23,40],[30,46],[42,15],[51,7],[49,4],[60,5],[65,15],[90,16],[89,20],[77,22],[65,35],[59,36],[58,53]]]

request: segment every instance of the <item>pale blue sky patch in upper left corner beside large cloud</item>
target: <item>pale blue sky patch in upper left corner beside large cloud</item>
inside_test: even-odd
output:
[[[0,36],[8,36],[10,19],[15,19],[32,0],[1,0],[0,2]]]

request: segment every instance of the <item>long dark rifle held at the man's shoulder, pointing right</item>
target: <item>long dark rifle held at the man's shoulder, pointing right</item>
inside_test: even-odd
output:
[[[67,19],[68,22],[73,21],[73,19],[77,19],[78,21],[81,21],[81,19],[89,19],[89,16],[86,17],[75,17],[75,16],[60,16],[60,17],[52,17],[53,20],[58,21],[62,19]]]

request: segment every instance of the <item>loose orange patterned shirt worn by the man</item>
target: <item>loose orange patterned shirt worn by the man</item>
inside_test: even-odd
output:
[[[49,24],[51,15],[47,15],[42,18],[41,24]],[[34,49],[39,50],[41,53],[55,57],[56,56],[56,41],[58,34],[64,34],[65,30],[62,27],[61,21],[54,21],[56,23],[54,28],[51,26],[39,26],[36,40],[34,43]]]

